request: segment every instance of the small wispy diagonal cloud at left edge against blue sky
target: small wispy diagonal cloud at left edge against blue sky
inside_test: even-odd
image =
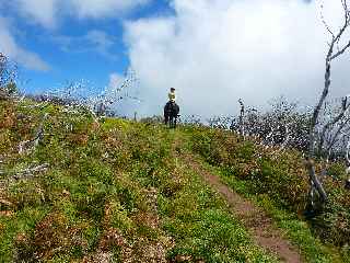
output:
[[[0,52],[28,69],[46,71],[49,66],[36,54],[19,46],[10,32],[9,22],[0,18]]]

